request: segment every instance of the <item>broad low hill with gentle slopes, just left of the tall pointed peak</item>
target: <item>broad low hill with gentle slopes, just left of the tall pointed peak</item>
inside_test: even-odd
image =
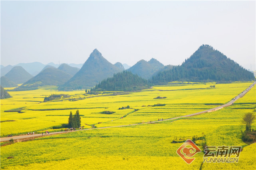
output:
[[[22,86],[18,87],[18,89],[34,88],[47,85],[61,86],[71,77],[72,76],[70,74],[67,74],[66,72],[53,66],[49,66],[48,68],[44,68],[38,75],[22,84]]]

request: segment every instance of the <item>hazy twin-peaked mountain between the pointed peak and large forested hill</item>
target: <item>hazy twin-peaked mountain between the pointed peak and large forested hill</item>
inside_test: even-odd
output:
[[[149,79],[155,72],[162,69],[163,67],[164,65],[162,63],[156,59],[151,59],[148,62],[145,60],[138,61],[128,70],[142,78]]]

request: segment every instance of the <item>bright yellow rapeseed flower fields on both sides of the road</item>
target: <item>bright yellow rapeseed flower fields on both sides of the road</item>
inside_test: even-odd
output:
[[[58,92],[50,87],[10,92],[13,98],[1,100],[1,137],[30,131],[56,131],[51,128],[67,123],[69,112],[75,113],[77,109],[82,115],[81,124],[86,128],[178,117],[227,103],[250,84],[252,82],[170,83],[141,92],[119,92],[119,95]],[[43,102],[50,94],[68,94],[70,97]],[[158,96],[166,98],[154,99]],[[75,131],[14,143],[1,147],[1,169],[255,169],[256,147],[241,139],[241,131],[245,129],[242,116],[254,111],[255,100],[256,87],[253,87],[234,105],[193,117]],[[158,103],[165,106],[153,106]],[[129,109],[119,109],[128,105]],[[21,113],[4,112],[19,107],[23,107]],[[101,111],[115,113],[108,115]],[[256,129],[256,123],[252,127]],[[194,156],[194,162],[185,163],[176,153],[182,142],[173,141],[193,138],[200,138],[195,143],[201,150],[204,145],[242,146],[239,162],[202,163],[204,153],[200,152]]]

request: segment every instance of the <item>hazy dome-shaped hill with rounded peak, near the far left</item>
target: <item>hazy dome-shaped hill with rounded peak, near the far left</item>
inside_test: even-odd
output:
[[[16,84],[22,84],[33,77],[22,66],[14,66],[5,76]]]

